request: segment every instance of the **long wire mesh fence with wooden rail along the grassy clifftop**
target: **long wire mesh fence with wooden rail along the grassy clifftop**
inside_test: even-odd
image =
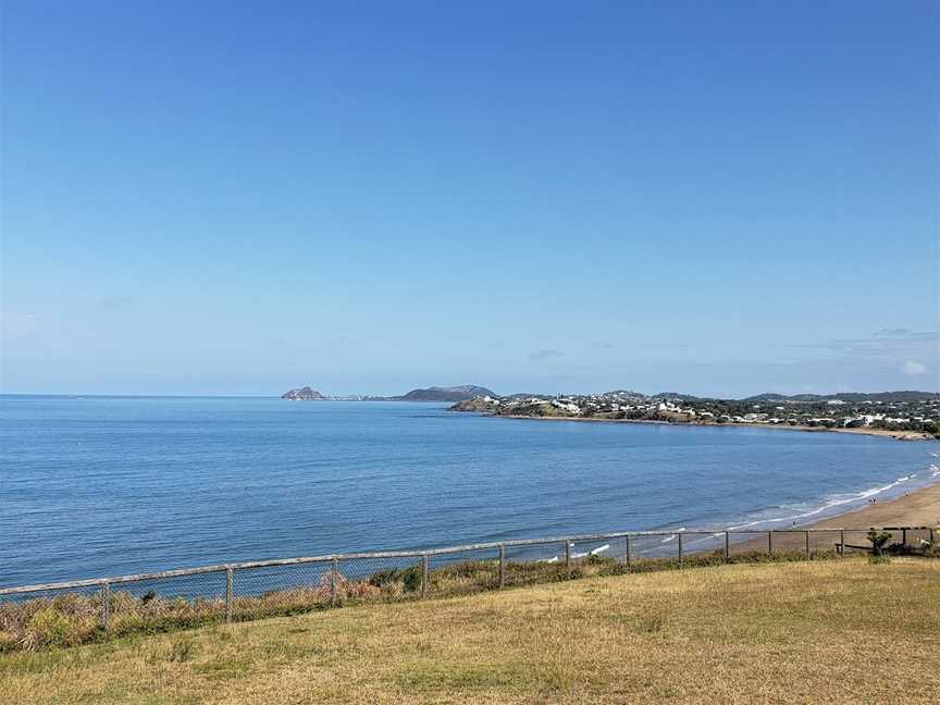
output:
[[[887,553],[938,555],[936,529],[889,528]],[[364,602],[685,566],[871,553],[869,529],[658,530],[226,564],[0,589],[0,652],[285,616]]]

